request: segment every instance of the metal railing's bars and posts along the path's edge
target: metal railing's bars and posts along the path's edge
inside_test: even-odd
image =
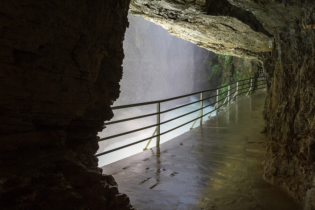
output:
[[[136,142],[133,142],[133,143],[130,143],[130,144],[127,144],[127,145],[118,147],[118,148],[116,148],[116,149],[112,149],[112,150],[108,150],[108,151],[105,151],[105,152],[101,152],[101,153],[99,153],[99,154],[96,154],[95,156],[98,157],[98,156],[101,156],[101,155],[105,155],[105,154],[108,154],[108,153],[110,153],[110,152],[117,151],[117,150],[126,148],[126,147],[131,146],[131,145],[138,144],[138,143],[143,142],[143,141],[146,141],[146,140],[149,140],[149,142],[148,142],[148,144],[147,144],[147,146],[148,146],[148,145],[150,144],[151,140],[152,140],[153,138],[155,138],[155,137],[157,137],[157,145],[159,145],[159,137],[160,137],[161,135],[163,135],[163,134],[165,134],[165,133],[169,133],[169,132],[171,132],[171,131],[173,131],[173,130],[175,130],[175,129],[177,129],[177,128],[180,128],[180,127],[182,127],[182,126],[184,126],[184,125],[190,123],[190,122],[193,122],[193,121],[196,122],[198,119],[200,119],[200,124],[202,124],[202,118],[203,118],[204,116],[206,116],[206,115],[208,115],[208,114],[211,115],[211,113],[212,113],[213,111],[216,111],[216,113],[218,114],[218,109],[219,109],[219,108],[221,108],[221,107],[222,107],[223,105],[225,105],[226,103],[227,103],[227,105],[229,105],[229,103],[231,102],[231,100],[232,100],[233,98],[237,97],[239,94],[244,94],[244,93],[247,93],[247,94],[248,94],[249,91],[253,91],[252,88],[254,88],[255,86],[265,85],[266,83],[252,85],[252,83],[255,83],[255,82],[253,82],[253,79],[257,79],[257,80],[256,80],[256,83],[257,83],[257,82],[266,81],[266,78],[263,78],[263,79],[259,80],[260,78],[262,78],[262,77],[253,77],[253,78],[248,78],[248,79],[242,79],[242,80],[238,80],[238,81],[236,81],[236,82],[232,82],[232,83],[230,83],[230,84],[221,86],[221,87],[219,87],[219,88],[214,88],[214,89],[209,89],[209,90],[198,91],[198,92],[195,92],[195,93],[185,94],[185,95],[181,95],[181,96],[177,96],[177,97],[173,97],[173,98],[169,98],[169,99],[163,99],[163,100],[157,100],[157,101],[150,101],[150,102],[144,102],[144,103],[137,103],[137,104],[113,106],[113,107],[112,107],[112,110],[116,110],[116,109],[130,108],[130,107],[136,107],[136,106],[142,106],[142,105],[157,104],[157,112],[152,113],[152,114],[142,115],[142,116],[130,117],[130,118],[123,119],[123,120],[117,120],[117,121],[107,122],[107,123],[105,123],[104,125],[115,124],[115,123],[119,123],[119,122],[126,122],[126,121],[130,121],[130,120],[134,120],[134,119],[140,119],[140,118],[143,118],[143,117],[153,116],[153,115],[156,115],[156,116],[157,116],[157,119],[158,119],[158,120],[157,120],[157,123],[156,123],[156,124],[152,124],[152,125],[150,125],[150,126],[143,127],[143,128],[138,128],[138,129],[135,129],[135,130],[132,130],[132,131],[128,131],[128,132],[124,132],[124,133],[120,133],[120,134],[108,136],[108,137],[105,137],[105,138],[101,138],[101,139],[99,139],[99,141],[103,141],[103,140],[106,140],[106,139],[112,139],[112,138],[119,137],[119,136],[122,136],[122,135],[130,134],[130,133],[135,133],[135,132],[137,132],[137,131],[141,131],[141,130],[148,129],[148,128],[152,128],[152,127],[157,127],[155,132],[157,132],[157,130],[158,130],[158,132],[157,132],[156,135],[154,135],[154,134],[155,134],[155,132],[154,132],[151,137],[148,137],[148,138],[146,138],[146,139],[142,139],[142,140],[139,140],[139,141],[136,141]],[[245,81],[245,80],[250,80],[250,82],[244,83],[244,84],[240,84],[240,85],[238,84],[238,82],[242,82],[242,81]],[[259,81],[258,81],[258,80],[259,80]],[[233,87],[233,88],[230,89],[230,86],[231,86],[231,85],[234,86],[235,83],[236,83],[236,87]],[[250,87],[245,87],[245,88],[240,88],[240,89],[238,89],[239,86],[248,85],[248,84],[250,84]],[[221,93],[219,94],[219,90],[222,89],[222,88],[225,88],[225,87],[229,87],[229,89],[228,89],[227,91],[221,92]],[[236,88],[236,90],[235,90],[234,92],[232,92],[232,90],[235,89],[235,88]],[[244,89],[247,89],[247,88],[249,88],[248,91],[245,91],[245,92],[243,92],[243,93],[239,93],[240,90],[244,90]],[[266,87],[262,87],[262,88],[266,88]],[[261,89],[261,88],[256,88],[256,90],[257,90],[257,89]],[[205,92],[210,92],[210,91],[214,91],[214,90],[217,90],[217,94],[216,94],[216,95],[210,96],[210,97],[207,97],[207,98],[203,99],[203,93],[205,93]],[[219,96],[222,95],[222,94],[226,94],[226,93],[227,93],[227,95],[226,95],[225,97],[223,97],[222,99],[219,100]],[[231,93],[231,94],[230,94],[230,93]],[[251,93],[252,93],[252,92],[251,92]],[[201,99],[200,99],[200,100],[197,100],[197,101],[194,101],[194,102],[191,102],[191,103],[187,103],[187,104],[185,104],[185,105],[181,105],[181,106],[178,106],[178,107],[174,107],[174,108],[171,108],[171,109],[168,109],[168,110],[165,110],[165,111],[160,111],[160,103],[167,102],[167,101],[171,101],[171,100],[175,100],[175,99],[180,99],[180,98],[184,98],[184,97],[188,97],[188,96],[192,96],[192,95],[196,95],[196,94],[200,94],[200,96],[201,96]],[[232,96],[233,94],[234,94],[234,96]],[[230,96],[232,96],[231,100],[230,100]],[[211,98],[214,98],[214,97],[216,97],[216,102],[214,102],[214,103],[212,103],[212,104],[209,104],[209,105],[206,105],[206,106],[203,106],[202,103],[203,103],[204,100],[211,99]],[[228,99],[228,100],[226,101],[226,99]],[[224,102],[222,102],[222,104],[219,106],[219,102],[221,102],[221,101],[223,101],[223,100],[224,100]],[[201,105],[201,106],[200,106],[200,109],[196,109],[196,110],[194,110],[194,111],[190,111],[190,112],[185,113],[185,114],[183,114],[183,115],[180,115],[180,116],[177,116],[177,117],[175,117],[175,118],[169,119],[169,120],[167,120],[167,121],[160,122],[160,114],[163,114],[163,113],[166,113],[166,112],[169,112],[169,111],[173,111],[173,110],[175,110],[175,109],[179,109],[179,108],[182,108],[182,107],[185,107],[185,106],[188,106],[188,105],[192,105],[192,104],[195,104],[195,103],[198,103],[198,102],[200,102],[200,105]],[[209,107],[209,106],[211,106],[211,105],[214,105],[214,104],[215,104],[215,106],[213,107],[213,110],[212,110],[212,111],[208,112],[207,114],[203,114],[203,109],[205,109],[206,107]],[[215,108],[215,107],[216,107],[216,108]],[[160,133],[160,131],[159,131],[160,125],[165,124],[165,123],[167,123],[167,122],[171,122],[171,121],[173,121],[173,120],[175,120],[175,119],[178,119],[178,118],[180,118],[180,117],[189,115],[189,114],[194,113],[194,112],[196,112],[196,111],[200,111],[199,114],[198,114],[198,116],[197,116],[197,118],[195,118],[195,119],[193,119],[193,120],[191,120],[191,121],[189,121],[189,122],[185,122],[184,124],[182,124],[182,125],[180,125],[180,126],[177,126],[177,127],[175,127],[175,128],[169,129],[169,130],[167,130],[167,131],[165,131],[165,132],[163,132],[163,133]],[[200,116],[199,116],[199,115],[200,115]],[[194,126],[195,122],[193,123],[192,127]],[[146,148],[147,148],[147,146],[146,146]],[[146,148],[145,148],[145,149],[146,149]],[[145,150],[145,149],[144,149],[144,150]]]

